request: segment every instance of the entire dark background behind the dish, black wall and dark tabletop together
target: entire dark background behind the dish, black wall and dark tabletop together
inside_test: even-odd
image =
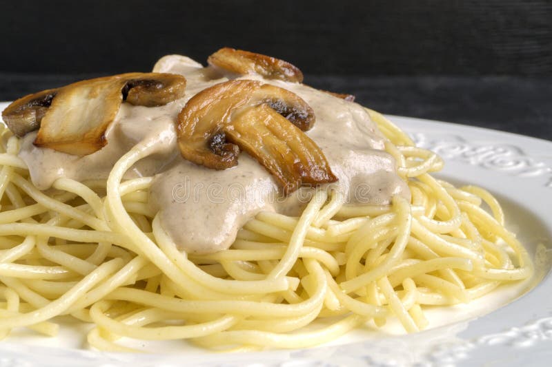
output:
[[[0,100],[222,46],[389,114],[552,139],[552,1],[10,1]]]

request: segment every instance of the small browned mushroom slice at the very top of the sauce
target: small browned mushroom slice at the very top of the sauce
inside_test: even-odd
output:
[[[234,48],[221,48],[208,57],[209,65],[235,74],[259,74],[268,79],[301,83],[303,73],[287,61]]]

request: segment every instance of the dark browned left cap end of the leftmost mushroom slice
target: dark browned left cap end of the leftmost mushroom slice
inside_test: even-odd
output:
[[[19,98],[3,110],[2,120],[12,133],[19,137],[24,136],[40,127],[56,93],[57,89],[43,90]]]

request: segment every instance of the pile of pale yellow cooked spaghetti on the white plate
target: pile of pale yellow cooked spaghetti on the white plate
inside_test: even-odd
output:
[[[259,213],[230,249],[210,255],[177,251],[146,205],[152,178],[122,179],[147,146],[119,159],[107,181],[61,178],[42,192],[3,128],[0,337],[21,327],[53,336],[55,317],[71,315],[90,323],[88,342],[102,350],[131,350],[124,337],[300,348],[393,317],[419,331],[426,306],[531,276],[495,198],[430,176],[442,160],[370,114],[411,202],[352,206],[319,189],[299,218]]]

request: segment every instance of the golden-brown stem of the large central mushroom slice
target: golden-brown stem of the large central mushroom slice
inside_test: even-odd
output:
[[[236,116],[226,136],[273,174],[286,194],[304,184],[337,181],[322,149],[268,105]]]

